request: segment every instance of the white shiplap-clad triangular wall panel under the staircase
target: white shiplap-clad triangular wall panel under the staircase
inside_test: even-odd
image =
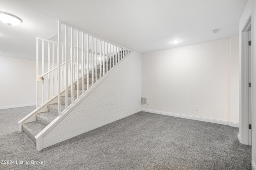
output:
[[[132,52],[42,138],[42,148],[141,111],[141,54]]]

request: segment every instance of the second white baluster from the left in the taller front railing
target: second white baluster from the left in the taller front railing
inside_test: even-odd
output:
[[[65,108],[67,109],[68,108],[68,27],[67,25],[65,25],[65,55],[66,55]]]

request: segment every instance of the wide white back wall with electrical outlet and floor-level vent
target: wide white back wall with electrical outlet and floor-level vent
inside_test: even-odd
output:
[[[232,47],[237,47],[237,41],[231,38]],[[142,105],[142,110],[222,124],[231,120],[237,126],[238,111],[229,113],[230,53],[231,64],[236,65],[237,52],[230,50],[227,38],[143,54],[142,96],[149,105]],[[237,69],[231,67],[232,82],[237,81]]]

